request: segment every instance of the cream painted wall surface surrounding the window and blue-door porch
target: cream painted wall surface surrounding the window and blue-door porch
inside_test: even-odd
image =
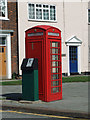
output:
[[[21,1],[21,0],[19,0]],[[26,2],[25,2],[26,1]],[[28,20],[28,1],[18,3],[18,24],[19,24],[19,68],[22,59],[25,57],[25,30],[36,25],[52,25],[62,31],[62,46],[66,57],[63,57],[63,73],[68,72],[67,46],[65,41],[73,35],[77,36],[83,43],[81,46],[81,71],[88,71],[88,23],[87,8],[85,2],[59,2],[58,0],[45,2],[39,0],[42,4],[54,4],[57,7],[57,22],[38,22]],[[79,0],[81,1],[81,0]],[[31,3],[38,3],[36,0],[30,0]]]

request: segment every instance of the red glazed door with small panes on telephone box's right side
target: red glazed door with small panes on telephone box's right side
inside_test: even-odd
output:
[[[50,40],[50,100],[62,99],[62,73],[61,73],[61,43],[60,40]],[[61,95],[60,95],[61,94]]]

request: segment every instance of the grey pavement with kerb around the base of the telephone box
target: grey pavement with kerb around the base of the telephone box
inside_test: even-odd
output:
[[[23,101],[22,86],[1,86],[2,109],[89,118],[88,86],[90,82],[63,83],[63,99],[53,102]]]

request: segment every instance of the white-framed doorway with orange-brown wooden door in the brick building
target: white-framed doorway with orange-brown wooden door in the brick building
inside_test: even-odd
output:
[[[0,79],[11,79],[11,35],[0,34]]]

